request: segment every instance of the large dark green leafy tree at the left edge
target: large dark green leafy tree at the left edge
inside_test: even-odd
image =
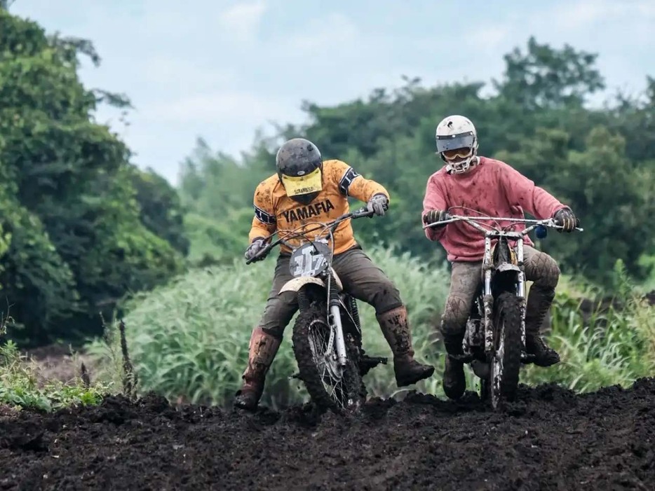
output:
[[[99,313],[182,268],[140,220],[152,211],[137,202],[130,151],[90,120],[100,100],[129,103],[83,87],[84,54],[100,61],[90,42],[0,11],[0,293],[26,344],[100,333]]]

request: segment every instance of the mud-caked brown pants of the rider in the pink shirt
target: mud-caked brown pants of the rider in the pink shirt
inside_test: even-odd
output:
[[[555,296],[555,286],[560,278],[560,268],[548,254],[533,247],[523,246],[525,279],[534,282],[527,298],[525,331],[538,333],[543,318],[551,307]],[[440,331],[446,349],[461,350],[461,340],[466,331],[466,321],[471,313],[475,293],[482,283],[482,262],[452,263],[450,292],[441,318]],[[459,345],[457,344],[459,343]]]

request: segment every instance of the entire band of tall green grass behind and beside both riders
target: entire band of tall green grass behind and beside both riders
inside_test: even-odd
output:
[[[391,250],[371,249],[370,256],[396,282],[407,303],[417,358],[436,367],[432,378],[410,389],[443,396],[443,354],[435,343],[435,327],[450,284],[448,268],[428,269],[416,259],[398,256]],[[273,266],[274,258],[269,258],[248,266],[237,260],[196,269],[131,300],[124,320],[140,380],[138,390],[193,403],[231,403],[241,385],[250,332],[262,314]],[[654,374],[654,307],[635,297],[620,267],[616,277],[616,296],[622,307],[591,315],[581,312],[581,302],[602,292],[562,278],[551,311],[549,334],[562,362],[550,368],[528,366],[522,371],[522,382],[554,381],[584,392],[604,385],[628,385],[635,378]],[[399,389],[393,378],[391,351],[372,307],[359,305],[365,350],[370,355],[389,357],[390,361],[366,375],[367,389],[372,396],[392,396]],[[290,342],[294,321],[285,331],[266,378],[262,401],[269,407],[306,400],[302,384],[290,378],[297,373]],[[102,343],[93,343],[91,352],[101,356]],[[466,373],[468,387],[475,389],[471,371]]]

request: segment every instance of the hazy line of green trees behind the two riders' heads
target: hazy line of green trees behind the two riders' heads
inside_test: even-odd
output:
[[[655,232],[642,226],[655,211],[655,82],[648,78],[640,97],[619,94],[602,109],[590,109],[588,96],[605,87],[596,59],[568,45],[558,49],[530,38],[525,50],[504,57],[504,75],[492,81],[495,93],[487,97],[482,81],[424,87],[419,79],[404,77],[400,88],[377,88],[365,99],[337,106],[305,102],[306,124],[281,125],[275,143],[255,146],[240,162],[212,156],[199,144],[182,169],[180,192],[194,214],[230,223],[230,237],[238,228],[227,216],[243,213],[247,231],[252,191],[271,174],[276,145],[280,139],[307,137],[325,158],[349,162],[391,193],[387,216],[353,224],[361,242],[396,244],[424,261],[442,261],[440,247],[424,237],[420,213],[426,181],[443,166],[435,155],[435,127],[459,113],[478,128],[482,155],[506,160],[580,215],[584,233],[550,234],[541,242],[562,268],[609,282],[614,261],[622,258],[631,274],[643,277],[649,261],[640,258],[655,250]],[[199,223],[197,217],[194,221]],[[203,228],[210,229],[206,222]],[[245,231],[238,231],[241,248],[228,237],[216,239],[225,246],[220,254],[242,254]],[[194,235],[200,236],[205,237]]]

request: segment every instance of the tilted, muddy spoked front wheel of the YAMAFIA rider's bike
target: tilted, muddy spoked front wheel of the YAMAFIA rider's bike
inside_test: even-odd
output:
[[[345,334],[346,364],[339,365],[335,335],[323,305],[313,303],[298,314],[293,329],[293,352],[299,378],[317,406],[337,412],[356,412],[366,400],[366,391],[356,363],[353,338]]]

